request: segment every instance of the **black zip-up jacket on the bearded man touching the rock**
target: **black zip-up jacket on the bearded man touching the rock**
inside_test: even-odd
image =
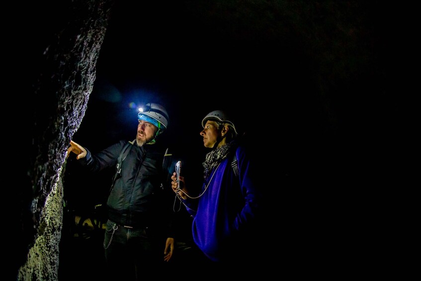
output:
[[[126,143],[120,141],[95,155],[85,148],[86,157],[80,162],[91,172],[115,167]],[[172,206],[168,191],[172,190],[165,186],[168,179],[168,172],[162,168],[165,149],[157,144],[139,147],[136,142],[129,149],[121,165],[121,177],[115,181],[107,199],[108,218],[121,226],[157,230],[166,227]]]

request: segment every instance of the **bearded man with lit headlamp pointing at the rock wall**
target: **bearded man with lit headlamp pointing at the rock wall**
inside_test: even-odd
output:
[[[173,251],[174,239],[166,232],[169,214],[161,186],[165,151],[153,145],[168,126],[168,113],[162,105],[148,103],[138,119],[136,139],[128,146],[127,141],[120,141],[92,155],[71,141],[68,149],[68,157],[75,153],[78,162],[91,172],[116,167],[124,152],[107,199],[104,249],[110,280],[152,276],[156,274],[152,270],[169,261]]]

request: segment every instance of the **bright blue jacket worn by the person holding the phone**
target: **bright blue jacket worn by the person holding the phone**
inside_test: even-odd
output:
[[[205,180],[198,199],[183,200],[193,216],[193,239],[212,261],[229,260],[246,250],[243,243],[252,235],[259,209],[250,159],[244,147],[235,150],[239,176],[231,157],[223,159]]]

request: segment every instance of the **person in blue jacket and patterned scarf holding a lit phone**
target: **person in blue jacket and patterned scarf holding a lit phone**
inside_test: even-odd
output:
[[[186,187],[182,176],[180,187],[176,173],[171,177],[173,191],[194,217],[195,244],[210,261],[221,265],[253,258],[251,246],[261,199],[253,161],[231,120],[221,110],[210,112],[202,120],[200,135],[204,146],[212,151],[203,162],[205,181],[200,192]]]

